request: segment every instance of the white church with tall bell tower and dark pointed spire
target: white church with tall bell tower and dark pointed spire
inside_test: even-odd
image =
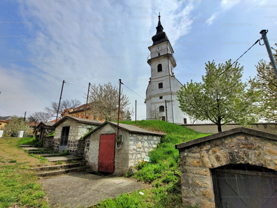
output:
[[[159,119],[170,123],[192,123],[189,117],[179,108],[177,90],[182,85],[174,76],[176,60],[168,36],[163,32],[161,16],[157,33],[152,37],[153,44],[149,46],[148,64],[151,67],[151,78],[146,90],[146,118]]]

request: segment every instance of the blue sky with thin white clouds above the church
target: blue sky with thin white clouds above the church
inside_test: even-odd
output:
[[[159,12],[176,78],[200,82],[205,62],[236,60],[262,29],[274,46],[276,8],[274,0],[1,0],[0,116],[43,111],[59,101],[62,80],[63,98],[82,103],[89,83],[118,86],[118,79],[144,98]],[[238,61],[244,81],[256,76],[261,59],[269,62],[265,46],[256,44]],[[137,100],[137,119],[145,119],[143,98],[125,86],[123,92],[131,107]]]

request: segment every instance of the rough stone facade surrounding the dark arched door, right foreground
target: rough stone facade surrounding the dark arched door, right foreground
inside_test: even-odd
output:
[[[211,168],[250,164],[277,171],[277,141],[237,133],[180,148],[183,205],[215,207]]]

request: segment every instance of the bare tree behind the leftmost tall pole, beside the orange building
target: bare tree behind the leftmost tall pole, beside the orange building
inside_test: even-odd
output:
[[[60,103],[60,109],[59,109],[58,115],[57,115],[57,107],[59,106],[59,103],[52,102],[51,107],[45,107],[45,110],[46,112],[48,112],[48,114],[51,114],[51,117],[55,117],[57,115],[59,119],[62,119],[62,113],[64,112],[64,110],[69,108],[75,108],[75,107],[78,107],[79,105],[81,105],[81,102],[78,101],[77,99],[63,100]]]

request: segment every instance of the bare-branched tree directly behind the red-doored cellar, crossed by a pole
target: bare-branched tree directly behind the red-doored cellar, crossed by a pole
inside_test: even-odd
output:
[[[104,85],[93,84],[89,90],[89,105],[91,114],[100,116],[101,120],[116,121],[118,116],[117,87],[107,83]],[[129,110],[129,98],[121,90],[120,96],[120,120],[129,120],[134,110]]]

